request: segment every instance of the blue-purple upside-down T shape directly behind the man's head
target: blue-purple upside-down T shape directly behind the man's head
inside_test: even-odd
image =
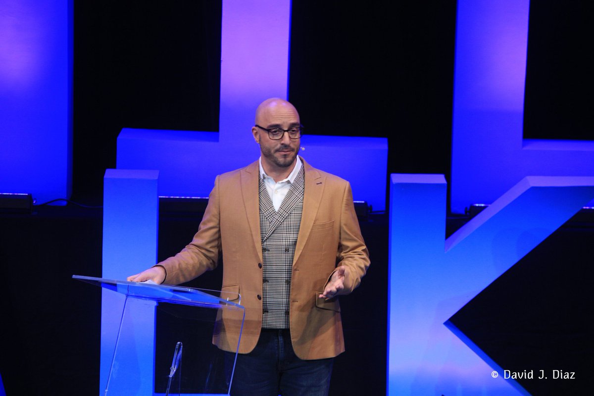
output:
[[[290,1],[224,0],[222,15],[220,131],[123,129],[118,137],[118,169],[158,169],[159,195],[207,197],[216,175],[258,159],[255,109],[268,97],[287,98]],[[306,129],[301,144],[312,166],[349,180],[355,200],[386,208],[387,138]]]

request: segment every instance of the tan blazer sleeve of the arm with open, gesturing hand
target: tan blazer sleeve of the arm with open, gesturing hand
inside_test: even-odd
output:
[[[359,220],[353,204],[353,192],[348,182],[346,182],[343,193],[340,214],[340,239],[336,267],[341,266],[346,269],[345,288],[337,295],[349,294],[355,290],[369,267],[369,252],[361,235]],[[332,274],[330,274],[331,276]],[[328,280],[330,280],[330,277],[328,277]]]

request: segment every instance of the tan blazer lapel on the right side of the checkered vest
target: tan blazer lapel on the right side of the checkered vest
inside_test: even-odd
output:
[[[309,237],[311,226],[314,224],[315,215],[318,213],[318,207],[320,207],[320,199],[324,192],[324,185],[326,184],[326,176],[320,175],[320,172],[305,162],[305,160],[303,160],[303,166],[305,171],[303,213],[301,215],[301,226],[299,226],[297,246],[295,246],[293,265],[297,262],[297,259],[299,258],[299,255],[301,255],[305,246],[305,241],[307,241]]]

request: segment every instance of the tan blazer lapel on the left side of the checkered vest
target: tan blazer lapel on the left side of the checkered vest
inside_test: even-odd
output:
[[[249,164],[241,170],[241,195],[244,198],[245,214],[248,218],[249,229],[252,232],[254,246],[262,262],[262,239],[260,235],[260,194],[258,192],[258,178],[260,167],[258,161]]]

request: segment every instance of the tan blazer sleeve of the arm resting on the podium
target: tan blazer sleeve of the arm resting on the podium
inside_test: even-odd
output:
[[[163,283],[179,284],[216,268],[221,251],[219,176],[208,196],[208,205],[198,232],[181,252],[159,262],[167,271]]]

